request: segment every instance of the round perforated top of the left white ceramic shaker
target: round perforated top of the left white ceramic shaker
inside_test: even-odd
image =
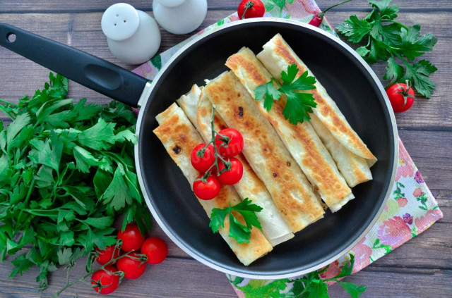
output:
[[[105,36],[120,41],[130,38],[136,32],[140,17],[130,4],[118,3],[107,8],[100,23]]]

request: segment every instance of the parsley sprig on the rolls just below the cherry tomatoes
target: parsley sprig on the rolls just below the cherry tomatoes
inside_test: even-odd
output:
[[[225,228],[225,218],[229,215],[229,237],[234,238],[239,243],[249,243],[252,226],[262,229],[261,223],[259,223],[256,216],[256,212],[260,212],[261,210],[261,206],[253,204],[248,198],[234,206],[231,206],[231,203],[229,203],[229,206],[223,209],[212,209],[209,226],[212,229],[212,232],[218,232],[220,227]],[[246,225],[239,222],[234,216],[234,211],[243,216]]]

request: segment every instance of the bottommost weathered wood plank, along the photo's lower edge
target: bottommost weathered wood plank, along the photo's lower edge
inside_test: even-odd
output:
[[[394,253],[391,253],[394,254]],[[387,257],[387,256],[386,256]],[[418,255],[422,258],[422,254]],[[376,261],[379,263],[381,260]],[[404,260],[405,261],[405,260]],[[365,297],[448,297],[452,290],[450,271],[438,268],[412,268],[409,266],[369,266],[363,271],[347,277],[345,281],[367,285]],[[10,266],[8,264],[2,266]],[[189,271],[187,271],[189,268]],[[6,269],[6,268],[5,268]],[[84,274],[81,263],[71,271],[72,278]],[[190,274],[186,274],[189,272]],[[32,269],[23,277],[6,279],[2,276],[0,294],[6,297],[37,297],[35,275]],[[2,274],[3,275],[3,274]],[[52,275],[44,297],[51,297],[64,286],[66,273],[59,270]],[[61,297],[90,297],[93,290],[78,283],[61,294]],[[331,297],[350,297],[338,285],[331,286]],[[194,260],[167,259],[157,266],[148,266],[138,280],[124,280],[119,289],[109,297],[236,297],[224,274],[203,266]]]

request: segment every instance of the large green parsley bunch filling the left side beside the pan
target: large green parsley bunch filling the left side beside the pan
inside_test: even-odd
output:
[[[151,228],[133,163],[133,112],[116,101],[74,103],[65,77],[49,79],[18,104],[0,99],[13,120],[6,129],[0,121],[1,261],[17,255],[11,277],[40,268],[40,290],[68,259],[114,244],[119,214],[123,228],[133,220]]]

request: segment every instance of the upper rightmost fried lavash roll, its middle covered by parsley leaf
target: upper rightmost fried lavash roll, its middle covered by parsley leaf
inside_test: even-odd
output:
[[[297,64],[299,71],[297,77],[305,71],[314,76],[311,70],[295,54],[290,46],[285,42],[280,34],[275,35],[269,42],[263,45],[263,51],[257,54],[257,58],[263,63],[273,77],[280,79],[281,72],[287,70],[287,66],[292,63]],[[343,113],[339,110],[333,99],[328,95],[326,89],[316,80],[316,89],[310,90],[316,99],[317,106],[313,109],[317,118],[325,125],[331,134],[343,144],[343,146],[352,151],[357,156],[368,160],[370,165],[376,162],[376,157],[362,142],[355,130],[345,119]]]

